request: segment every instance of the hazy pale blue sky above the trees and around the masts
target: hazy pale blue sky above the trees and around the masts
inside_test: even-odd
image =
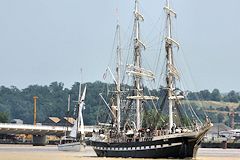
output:
[[[162,30],[155,24],[164,20],[164,3],[140,0],[146,42]],[[178,13],[174,35],[183,51],[178,56],[186,60],[195,85],[190,90],[240,91],[240,1],[171,4]],[[133,9],[134,0],[0,0],[0,86],[23,89],[58,81],[70,88],[80,79],[102,81],[116,21],[128,33]]]

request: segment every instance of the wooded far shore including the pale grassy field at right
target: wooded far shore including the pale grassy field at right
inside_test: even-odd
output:
[[[85,83],[88,86],[86,95],[86,109],[84,110],[84,121],[86,125],[96,124],[98,113],[106,113],[99,93],[107,96],[113,90],[114,84],[107,84],[96,81]],[[75,82],[70,89],[65,88],[61,82],[52,82],[50,85],[29,85],[27,88],[18,89],[16,86],[0,86],[0,122],[10,122],[11,119],[22,119],[26,124],[33,122],[33,96],[37,96],[37,121],[45,122],[48,117],[64,117],[67,110],[67,98],[71,95],[71,112],[74,116],[74,106],[78,97],[79,83]],[[127,88],[129,86],[123,85]],[[144,90],[148,90],[146,87]],[[164,97],[164,89],[151,90],[152,95],[160,98]],[[212,91],[201,90],[199,92],[187,91],[184,93],[190,100],[194,110],[217,110],[217,111],[240,111],[240,94],[236,91],[221,93],[218,89]],[[200,106],[200,107],[199,107]],[[224,122],[229,124],[230,118],[220,113],[208,113],[213,123]],[[104,118],[104,117],[101,117]],[[235,115],[235,120],[240,121],[239,114]]]

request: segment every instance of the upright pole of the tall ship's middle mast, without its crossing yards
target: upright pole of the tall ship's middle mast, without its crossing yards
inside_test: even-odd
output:
[[[140,21],[143,21],[143,16],[139,13],[138,8],[138,0],[135,0],[135,19],[134,19],[134,29],[135,29],[135,39],[134,39],[134,68],[141,68],[141,48],[144,47],[142,42],[140,41]],[[142,93],[141,88],[141,76],[134,76],[134,88],[136,90],[135,96],[140,97]],[[136,127],[137,130],[141,128],[141,100],[140,98],[136,98]]]

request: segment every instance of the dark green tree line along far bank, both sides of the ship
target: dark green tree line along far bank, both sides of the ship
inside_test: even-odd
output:
[[[109,115],[107,109],[101,100],[99,93],[105,97],[111,90],[113,85],[96,81],[94,83],[85,83],[87,85],[87,93],[84,109],[84,123],[86,125],[96,124],[99,119],[106,120]],[[108,86],[108,87],[106,87]],[[83,89],[83,87],[82,87]],[[37,96],[37,122],[41,123],[48,117],[66,116],[67,99],[71,95],[70,115],[75,116],[76,101],[78,99],[79,83],[75,82],[70,89],[65,88],[61,82],[52,82],[50,85],[30,85],[24,89],[18,89],[15,86],[0,87],[0,122],[9,122],[11,119],[22,119],[24,123],[33,123],[33,96]],[[163,91],[153,90],[159,97],[164,95]],[[213,100],[238,102],[240,100],[239,93],[230,91],[227,94],[221,94],[218,89],[212,92],[202,90],[200,92],[189,92],[190,100]],[[104,116],[99,116],[103,113]]]

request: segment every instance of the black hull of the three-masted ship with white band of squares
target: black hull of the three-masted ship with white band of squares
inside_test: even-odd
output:
[[[198,134],[168,135],[158,140],[142,142],[94,142],[92,146],[99,157],[132,158],[195,158],[206,131]]]

